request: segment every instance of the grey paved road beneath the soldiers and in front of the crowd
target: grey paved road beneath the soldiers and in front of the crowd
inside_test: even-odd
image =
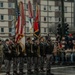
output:
[[[26,66],[26,65],[25,65]],[[51,68],[52,69],[52,73],[54,73],[54,75],[75,75],[75,66],[65,66],[65,67],[58,67],[58,66],[54,66]],[[24,69],[24,72],[26,72],[26,74],[24,75],[29,75],[27,74],[27,70]],[[0,75],[5,75],[5,73],[0,73]],[[12,71],[11,71],[11,75],[12,75]],[[38,74],[30,74],[30,75],[46,75],[46,72],[40,72]]]

